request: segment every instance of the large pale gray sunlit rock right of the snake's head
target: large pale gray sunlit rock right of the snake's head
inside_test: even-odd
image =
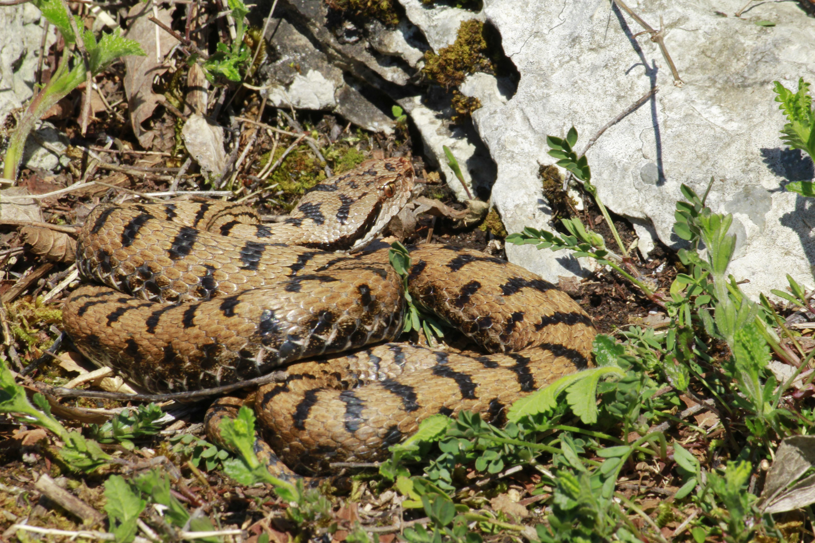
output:
[[[473,118],[497,164],[492,197],[507,229],[547,227],[549,208],[536,176],[539,163],[555,162],[546,154],[546,134],[563,137],[575,125],[582,151],[602,125],[659,85],[654,98],[588,151],[606,206],[631,217],[641,236],[651,230],[678,247],[672,224],[681,183],[701,195],[715,177],[707,201],[716,212],[734,214],[738,249],[729,271],[750,280],[744,290],[756,296],[782,288],[785,273],[813,286],[808,225],[815,225],[815,202],[783,190],[787,180],[812,179],[813,164],[799,151],[786,151],[778,138],[785,119],[773,102],[772,81],[793,88],[799,76],[813,80],[815,19],[794,2],[756,3],[741,19],[732,16],[743,3],[641,0],[632,6],[654,27],[663,17],[667,49],[684,81],[674,86],[659,48],[646,35],[632,37],[642,28],[611,2],[532,7],[487,0],[487,21],[521,74],[517,94],[506,103],[489,85],[468,89],[483,104]],[[643,247],[649,245],[644,239]],[[507,253],[549,279],[581,273],[562,253],[530,246],[509,246]]]

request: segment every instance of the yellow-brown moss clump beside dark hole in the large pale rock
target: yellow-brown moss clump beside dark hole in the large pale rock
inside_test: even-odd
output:
[[[468,74],[474,72],[493,72],[487,52],[487,40],[484,38],[484,24],[478,20],[462,21],[456,42],[443,47],[438,54],[425,53],[425,76],[446,89],[458,86]]]

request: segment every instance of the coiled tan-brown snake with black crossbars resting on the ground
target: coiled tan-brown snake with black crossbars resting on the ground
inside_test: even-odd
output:
[[[216,200],[100,204],[77,242],[81,275],[97,284],[69,297],[65,329],[95,364],[150,392],[287,365],[254,406],[275,452],[308,475],[381,458],[431,414],[500,423],[518,397],[590,364],[594,328],[530,271],[428,244],[411,251],[412,298],[491,354],[382,344],[402,330],[403,282],[369,242],[412,186],[407,159],[368,160],[274,226]],[[362,250],[338,252],[349,249]]]

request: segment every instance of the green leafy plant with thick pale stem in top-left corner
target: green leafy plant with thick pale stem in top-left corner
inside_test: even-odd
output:
[[[73,21],[73,15],[68,11],[63,0],[33,0],[33,4],[42,11],[42,15],[45,16],[49,23],[59,29],[66,46],[77,42],[77,36],[73,31],[73,28],[76,28],[76,23]],[[82,32],[81,37],[87,52],[87,66],[78,51],[74,51],[74,54],[71,55],[68,54],[66,47],[66,52],[59,61],[59,67],[51,76],[51,81],[42,87],[37,94],[34,94],[29,107],[20,116],[17,128],[14,134],[11,135],[11,141],[6,151],[3,177],[12,180],[16,179],[20,160],[23,159],[25,140],[28,139],[37,120],[51,106],[86,81],[87,72],[90,72],[91,76],[95,76],[121,56],[144,55],[139,43],[121,37],[118,29],[113,33],[103,33],[99,42],[96,41],[94,33],[90,30]],[[73,68],[69,68],[68,64],[72,59]]]

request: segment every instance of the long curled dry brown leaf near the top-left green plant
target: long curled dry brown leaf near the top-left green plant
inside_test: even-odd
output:
[[[157,19],[170,26],[171,12],[158,10]],[[156,104],[163,100],[159,94],[153,93],[152,81],[154,77],[167,71],[161,63],[156,62],[156,25],[148,20],[151,15],[152,7],[149,3],[139,2],[130,8],[128,19],[133,23],[130,24],[127,37],[139,42],[146,55],[125,57],[125,96],[130,107],[130,124],[133,125],[133,133],[145,149],[150,148],[156,134],[152,130],[143,129],[142,123],[152,116]],[[178,40],[161,30],[159,43],[161,54],[166,55]]]

